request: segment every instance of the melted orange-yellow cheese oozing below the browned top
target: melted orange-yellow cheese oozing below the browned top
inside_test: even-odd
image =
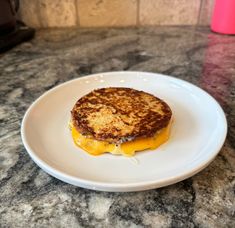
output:
[[[98,141],[92,138],[88,138],[80,134],[74,126],[71,126],[72,137],[74,143],[92,155],[100,155],[103,153],[121,154],[131,157],[135,155],[136,151],[142,151],[146,149],[156,149],[169,139],[171,122],[168,126],[162,129],[153,137],[140,138],[130,142],[122,143],[118,146],[104,141]]]

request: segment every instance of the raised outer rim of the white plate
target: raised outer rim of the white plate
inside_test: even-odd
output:
[[[162,77],[168,81],[173,80],[174,82],[179,82],[180,84],[183,83],[184,85],[188,85],[188,86],[200,91],[200,93],[203,93],[204,95],[209,97],[210,100],[212,102],[214,102],[215,105],[217,106],[217,110],[219,111],[219,114],[223,119],[223,126],[224,126],[223,137],[221,137],[219,143],[217,143],[218,145],[217,145],[216,151],[212,154],[210,153],[209,158],[204,160],[204,162],[200,162],[200,165],[198,165],[198,164],[195,165],[195,167],[193,169],[192,168],[184,169],[184,171],[180,172],[178,175],[173,175],[171,177],[168,177],[167,179],[161,178],[161,179],[158,179],[157,181],[154,181],[154,180],[139,181],[139,182],[137,181],[137,182],[132,182],[132,183],[118,183],[118,182],[110,183],[110,182],[102,182],[102,181],[93,181],[93,180],[83,179],[80,177],[66,174],[63,171],[56,169],[55,167],[53,168],[50,164],[48,164],[47,162],[40,159],[37,156],[37,153],[35,153],[32,150],[32,148],[30,147],[30,145],[27,143],[26,133],[25,133],[25,131],[26,131],[25,125],[27,123],[27,118],[29,117],[31,110],[33,109],[33,107],[35,107],[35,105],[38,103],[38,101],[40,101],[41,99],[43,99],[44,97],[46,97],[50,93],[54,92],[55,90],[60,89],[60,87],[63,87],[63,86],[68,85],[70,83],[74,83],[75,81],[84,80],[84,78],[88,79],[88,78],[97,77],[97,76],[101,76],[101,75],[106,75],[106,76],[108,75],[108,77],[110,77],[110,75],[111,75],[112,77],[114,77],[115,75],[119,75],[119,74],[129,74],[129,75],[131,75],[131,74],[145,74],[145,75],[149,74],[152,76]],[[78,187],[87,188],[87,189],[108,191],[108,192],[130,192],[130,191],[143,191],[143,190],[148,190],[148,189],[153,189],[153,188],[158,188],[158,187],[164,187],[164,186],[185,180],[185,179],[195,175],[196,173],[199,173],[201,170],[203,170],[205,167],[207,167],[214,160],[214,158],[217,156],[217,154],[220,152],[220,150],[225,142],[226,136],[227,136],[227,130],[228,130],[227,119],[226,119],[226,115],[225,115],[222,107],[217,102],[217,100],[215,100],[215,98],[213,98],[208,92],[201,89],[200,87],[198,87],[188,81],[185,81],[183,79],[175,78],[173,76],[164,75],[164,74],[160,74],[160,73],[145,72],[145,71],[111,71],[111,72],[101,72],[101,73],[96,73],[96,74],[84,75],[79,78],[75,78],[75,79],[71,79],[66,82],[63,82],[63,83],[61,83],[57,86],[54,86],[51,89],[45,91],[36,100],[34,100],[30,104],[30,106],[27,108],[27,111],[25,112],[23,119],[22,119],[22,122],[21,122],[20,132],[21,132],[21,139],[22,139],[23,145],[24,145],[27,153],[30,155],[32,160],[40,168],[42,168],[45,172],[47,172],[51,176],[53,176],[57,179],[60,179],[63,182],[66,182],[66,183],[69,183],[69,184],[72,184],[72,185],[75,185]],[[221,133],[221,135],[222,135],[222,133]]]

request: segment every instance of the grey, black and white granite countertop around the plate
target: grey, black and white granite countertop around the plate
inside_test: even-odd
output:
[[[26,109],[55,85],[91,73],[150,71],[185,79],[223,107],[216,159],[180,183],[106,193],[59,181],[29,158]],[[235,36],[206,27],[39,30],[0,55],[0,227],[235,227]]]

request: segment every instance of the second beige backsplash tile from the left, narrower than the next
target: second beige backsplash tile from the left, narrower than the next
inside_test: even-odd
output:
[[[42,27],[75,26],[77,15],[75,0],[39,0]]]

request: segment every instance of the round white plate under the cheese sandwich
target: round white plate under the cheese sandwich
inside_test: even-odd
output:
[[[68,122],[75,102],[93,89],[131,87],[165,100],[174,123],[169,141],[136,160],[77,148]],[[21,135],[29,155],[52,176],[83,188],[140,191],[186,179],[205,168],[221,149],[227,122],[218,103],[198,87],[170,76],[111,72],[78,78],[51,89],[26,112]]]

